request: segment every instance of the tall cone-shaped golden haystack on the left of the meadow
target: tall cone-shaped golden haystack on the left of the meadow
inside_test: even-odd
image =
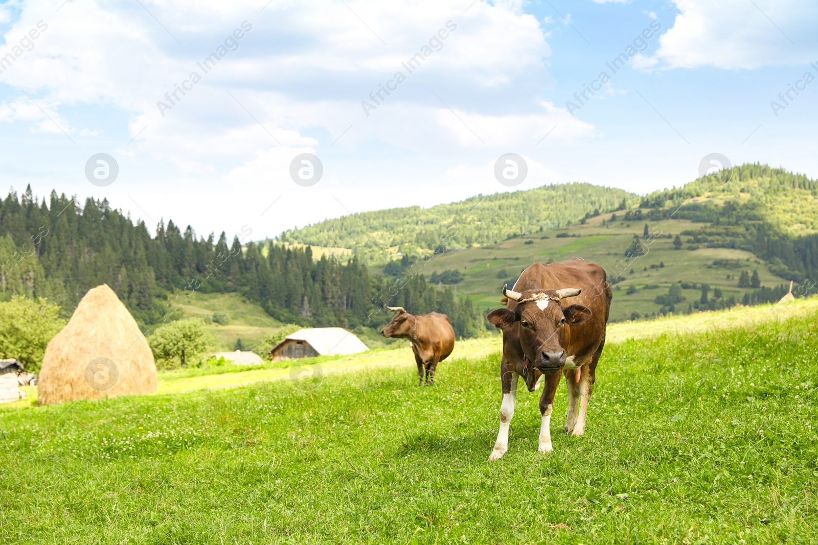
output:
[[[88,290],[52,338],[38,382],[41,404],[156,392],[156,364],[145,336],[114,290]]]

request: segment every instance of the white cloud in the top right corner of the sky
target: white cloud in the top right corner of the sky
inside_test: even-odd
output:
[[[685,0],[676,9],[681,13],[655,55],[668,68],[756,69],[813,60],[816,2]]]

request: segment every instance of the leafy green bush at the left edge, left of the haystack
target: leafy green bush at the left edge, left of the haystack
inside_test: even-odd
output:
[[[48,342],[64,326],[60,307],[46,299],[15,296],[0,302],[0,356],[18,360],[29,373],[38,373]]]

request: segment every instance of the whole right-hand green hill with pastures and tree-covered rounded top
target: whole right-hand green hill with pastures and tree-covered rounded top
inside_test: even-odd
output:
[[[605,267],[614,286],[612,320],[775,301],[818,279],[818,184],[806,176],[743,165],[641,199],[638,208],[583,218],[560,229],[513,236],[482,248],[449,248],[420,262],[427,278],[458,271],[454,284],[483,310],[497,308],[504,283],[537,261],[582,257]],[[645,239],[645,228],[648,238]],[[680,249],[674,242],[679,236]],[[636,242],[635,242],[636,241]],[[629,249],[639,244],[631,258]],[[397,265],[397,262],[395,262]],[[371,275],[395,274],[371,266]],[[412,270],[417,272],[417,267]],[[757,285],[750,283],[757,274]],[[742,277],[746,275],[746,281]],[[667,298],[672,284],[676,300]],[[708,284],[708,302],[702,301]],[[786,288],[784,288],[786,286]],[[718,290],[718,291],[717,291]],[[718,296],[718,297],[714,297]]]

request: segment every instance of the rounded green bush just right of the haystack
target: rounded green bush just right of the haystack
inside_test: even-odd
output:
[[[201,356],[213,350],[217,342],[204,320],[189,318],[160,325],[148,337],[148,344],[156,367],[173,369],[178,365],[200,364]]]

